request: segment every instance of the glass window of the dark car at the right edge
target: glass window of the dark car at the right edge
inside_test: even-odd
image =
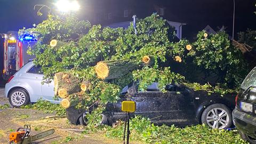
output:
[[[251,72],[246,76],[241,87],[242,89],[247,89],[247,87],[254,85],[256,85],[256,67],[253,68]]]

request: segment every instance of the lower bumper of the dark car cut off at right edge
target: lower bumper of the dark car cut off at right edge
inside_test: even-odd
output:
[[[235,108],[232,111],[233,123],[239,131],[256,138],[256,117],[238,111]]]

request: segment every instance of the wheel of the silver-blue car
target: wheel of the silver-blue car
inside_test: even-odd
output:
[[[26,90],[22,88],[14,89],[8,95],[9,102],[12,107],[19,108],[29,103],[30,97]]]

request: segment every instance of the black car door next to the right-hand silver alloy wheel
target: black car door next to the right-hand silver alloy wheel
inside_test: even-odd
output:
[[[173,85],[171,85],[173,86]],[[185,126],[195,123],[195,107],[193,95],[186,87],[174,86],[174,89],[167,89],[159,98],[161,103],[162,121],[159,123]]]

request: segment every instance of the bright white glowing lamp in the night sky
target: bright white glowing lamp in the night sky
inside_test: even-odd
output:
[[[80,9],[77,1],[59,0],[55,5],[61,12],[78,11]]]

